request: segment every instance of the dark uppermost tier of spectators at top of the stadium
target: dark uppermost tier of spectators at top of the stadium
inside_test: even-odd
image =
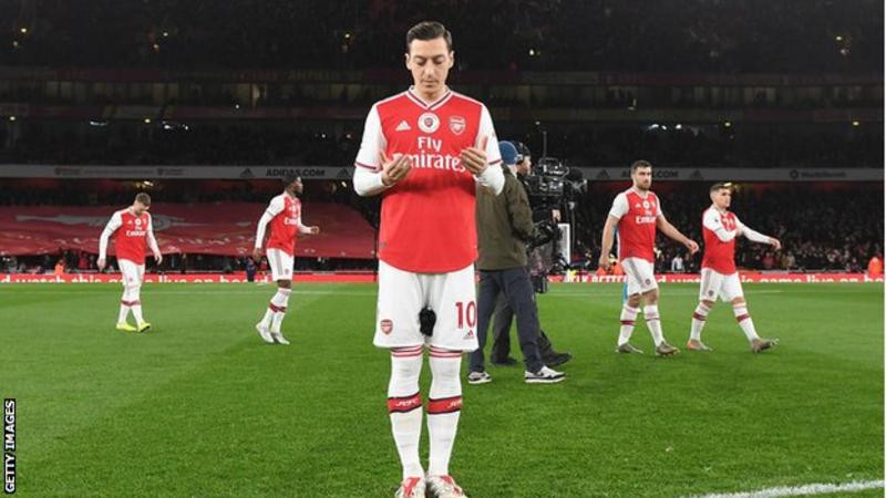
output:
[[[463,69],[869,71],[883,2],[856,0],[43,0],[0,18],[18,65],[395,68],[405,30],[439,19]]]

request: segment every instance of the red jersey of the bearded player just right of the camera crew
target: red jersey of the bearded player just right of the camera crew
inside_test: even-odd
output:
[[[619,261],[640,258],[655,263],[656,222],[662,216],[658,196],[631,187],[616,196],[609,216],[618,219]]]

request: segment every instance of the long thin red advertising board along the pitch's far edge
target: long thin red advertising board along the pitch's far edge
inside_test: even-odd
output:
[[[742,282],[752,283],[883,283],[883,276],[867,273],[764,273],[739,272]],[[0,283],[120,283],[120,273],[0,273]],[[553,276],[552,282],[566,283],[621,283],[625,276],[598,276],[594,273],[569,273]],[[698,273],[663,273],[656,276],[659,283],[699,283]],[[223,273],[146,273],[145,283],[249,283],[245,272]],[[295,282],[368,283],[375,281],[375,273],[363,272],[317,272],[296,273]],[[269,274],[257,274],[253,283],[271,283]]]

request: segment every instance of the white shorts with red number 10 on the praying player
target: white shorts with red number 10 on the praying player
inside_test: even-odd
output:
[[[434,310],[434,333],[419,330],[419,312]],[[414,273],[379,261],[379,301],[375,309],[378,347],[430,344],[451,351],[477,349],[477,304],[474,266],[449,273]]]

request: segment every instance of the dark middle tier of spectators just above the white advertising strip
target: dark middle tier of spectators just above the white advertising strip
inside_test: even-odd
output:
[[[621,166],[638,156],[664,167],[882,167],[883,124],[501,123],[519,139],[575,166]],[[362,124],[112,123],[21,125],[0,163],[80,165],[350,166]],[[528,133],[527,133],[528,129]]]

